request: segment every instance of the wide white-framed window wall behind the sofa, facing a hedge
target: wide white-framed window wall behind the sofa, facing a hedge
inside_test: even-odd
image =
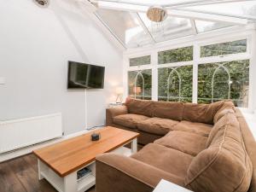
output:
[[[131,57],[129,96],[198,103],[229,99],[237,107],[248,108],[249,90],[252,89],[249,43],[248,38],[221,44],[195,42],[177,49],[154,50],[150,56]]]

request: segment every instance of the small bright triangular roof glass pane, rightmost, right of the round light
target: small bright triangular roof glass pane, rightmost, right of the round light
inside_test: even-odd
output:
[[[211,22],[206,20],[195,20],[195,26],[196,26],[197,32],[209,32],[216,29],[229,27],[232,25],[227,23]]]

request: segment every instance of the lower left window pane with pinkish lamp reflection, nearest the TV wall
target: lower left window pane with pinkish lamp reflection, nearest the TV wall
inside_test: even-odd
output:
[[[128,87],[128,94],[131,98],[151,100],[151,69],[128,72]]]

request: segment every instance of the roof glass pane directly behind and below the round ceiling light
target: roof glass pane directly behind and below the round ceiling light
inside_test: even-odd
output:
[[[145,13],[139,13],[143,23],[148,28],[155,42],[162,42],[174,38],[183,38],[194,34],[189,19],[168,16],[163,22],[148,20]]]

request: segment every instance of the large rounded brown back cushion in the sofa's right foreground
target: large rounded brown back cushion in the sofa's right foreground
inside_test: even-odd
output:
[[[232,113],[220,120],[209,147],[192,160],[185,184],[197,192],[247,192],[253,168],[240,125]]]

